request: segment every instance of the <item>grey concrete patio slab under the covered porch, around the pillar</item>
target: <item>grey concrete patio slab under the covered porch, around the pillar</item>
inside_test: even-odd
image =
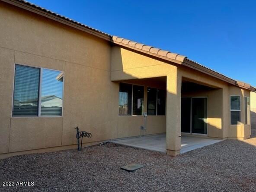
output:
[[[222,140],[182,135],[180,154],[202,148],[207,145],[212,145],[221,141]],[[112,142],[120,145],[127,145],[135,148],[142,148],[151,151],[166,153],[166,134],[147,135],[145,137],[122,138],[112,140]]]

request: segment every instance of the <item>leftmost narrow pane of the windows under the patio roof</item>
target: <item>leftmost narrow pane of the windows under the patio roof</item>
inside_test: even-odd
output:
[[[132,85],[126,83],[119,84],[119,115],[131,115],[131,94]]]

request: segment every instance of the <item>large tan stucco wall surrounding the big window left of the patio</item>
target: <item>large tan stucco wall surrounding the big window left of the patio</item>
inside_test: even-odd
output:
[[[109,42],[2,2],[0,28],[0,153],[76,144],[75,126],[117,137]],[[63,117],[11,117],[15,63],[64,71]]]

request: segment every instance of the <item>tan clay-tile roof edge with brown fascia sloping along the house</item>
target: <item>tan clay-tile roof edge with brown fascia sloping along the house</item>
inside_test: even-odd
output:
[[[151,55],[153,57],[157,57],[157,58],[160,58],[160,59],[163,59],[163,60],[178,63],[178,64],[181,64],[183,66],[187,66],[187,67],[190,67],[192,69],[198,70],[200,72],[206,73],[210,76],[214,76],[215,78],[221,79],[225,82],[228,82],[232,85],[236,85],[240,88],[248,89],[250,91],[256,91],[256,88],[252,87],[250,84],[247,84],[247,83],[244,83],[244,82],[239,82],[239,81],[236,81],[234,79],[231,79],[230,77],[227,77],[227,76],[225,76],[225,75],[223,75],[219,72],[216,72],[216,71],[214,71],[214,70],[212,70],[212,69],[210,69],[206,66],[203,66],[203,65],[201,65],[201,64],[199,64],[199,63],[197,63],[193,60],[188,59],[186,56],[171,53],[170,51],[161,50],[161,49],[151,47],[151,46],[148,46],[148,45],[140,44],[138,42],[131,41],[131,40],[128,40],[128,39],[119,38],[117,36],[109,35],[107,33],[99,31],[95,28],[89,27],[89,26],[84,25],[80,22],[69,19],[65,16],[61,16],[58,13],[54,13],[54,12],[48,10],[48,9],[42,8],[40,6],[37,6],[33,3],[29,3],[29,2],[24,1],[24,0],[1,0],[1,1],[6,2],[6,3],[10,3],[14,6],[18,6],[22,9],[29,10],[29,11],[31,11],[33,13],[36,13],[36,14],[39,14],[41,16],[45,16],[49,19],[53,19],[57,22],[61,22],[65,25],[68,25],[68,26],[73,27],[73,28],[77,28],[81,31],[85,31],[85,32],[90,33],[92,35],[95,35],[99,38],[103,38],[107,41],[111,41],[113,44],[117,44],[119,46],[126,47],[126,48],[129,48],[129,49],[138,51],[140,53]]]

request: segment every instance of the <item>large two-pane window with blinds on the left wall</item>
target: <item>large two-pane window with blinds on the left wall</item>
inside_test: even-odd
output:
[[[63,78],[60,71],[16,65],[13,116],[61,116]]]

